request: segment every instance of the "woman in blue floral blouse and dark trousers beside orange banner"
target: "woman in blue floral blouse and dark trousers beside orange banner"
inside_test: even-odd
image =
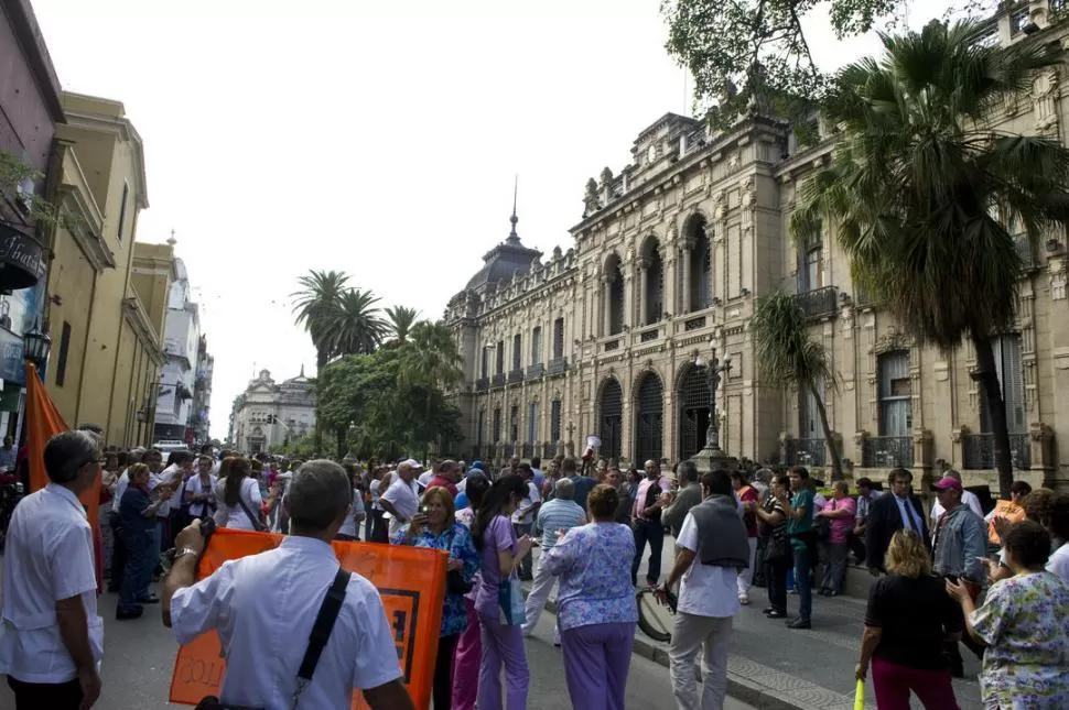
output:
[[[460,570],[466,583],[472,583],[478,570],[479,558],[467,527],[456,522],[453,496],[449,490],[435,485],[423,493],[420,512],[412,523],[398,533],[397,545],[432,547],[450,554],[449,569]],[[461,632],[467,626],[464,592],[445,591],[442,610],[442,632],[438,640],[438,658],[434,662],[434,710],[450,710],[453,696],[453,649]]]

